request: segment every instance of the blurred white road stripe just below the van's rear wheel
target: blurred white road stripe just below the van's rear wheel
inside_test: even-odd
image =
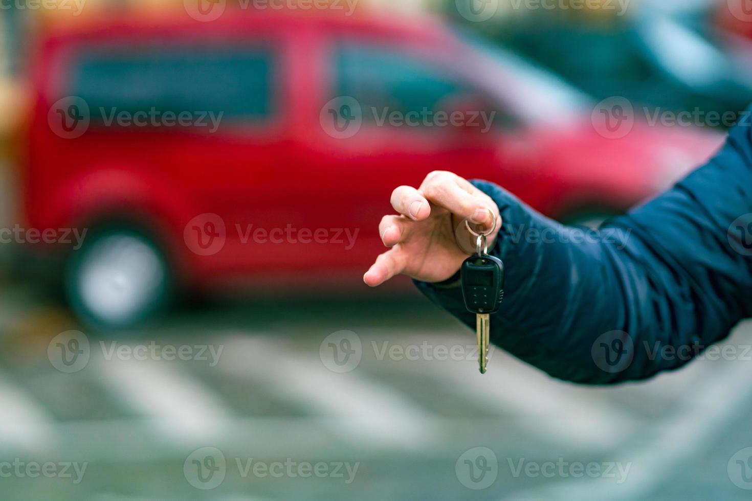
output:
[[[231,412],[222,400],[199,380],[177,370],[175,362],[117,356],[107,360],[92,349],[91,364],[99,372],[99,381],[148,418],[160,436],[182,443],[217,437],[228,430]]]

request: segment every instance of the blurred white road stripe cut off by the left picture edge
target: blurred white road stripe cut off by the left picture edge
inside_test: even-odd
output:
[[[0,442],[38,451],[55,444],[53,418],[29,394],[0,379]]]

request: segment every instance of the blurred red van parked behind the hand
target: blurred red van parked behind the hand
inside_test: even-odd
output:
[[[720,143],[639,119],[608,139],[587,96],[433,20],[100,20],[48,34],[32,69],[27,224],[86,228],[66,292],[105,327],[175,291],[365,287],[390,193],[430,171],[564,219],[623,211]]]

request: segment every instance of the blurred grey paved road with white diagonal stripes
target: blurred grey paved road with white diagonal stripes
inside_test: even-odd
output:
[[[480,376],[472,333],[422,302],[207,306],[102,339],[61,337],[78,328],[65,309],[6,283],[0,318],[2,499],[686,501],[752,487],[747,457],[732,459],[752,446],[741,356],[607,390],[502,352]],[[32,478],[36,463],[54,478]]]

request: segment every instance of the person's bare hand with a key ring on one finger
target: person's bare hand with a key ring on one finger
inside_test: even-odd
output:
[[[501,228],[493,200],[450,172],[432,172],[419,189],[399,186],[392,193],[392,207],[401,215],[381,219],[379,234],[391,249],[378,256],[363,276],[371,287],[400,273],[423,282],[449,279],[475,252],[477,237],[468,232],[465,221],[485,233],[493,226],[489,210],[493,211],[497,225],[487,236],[489,246]]]

